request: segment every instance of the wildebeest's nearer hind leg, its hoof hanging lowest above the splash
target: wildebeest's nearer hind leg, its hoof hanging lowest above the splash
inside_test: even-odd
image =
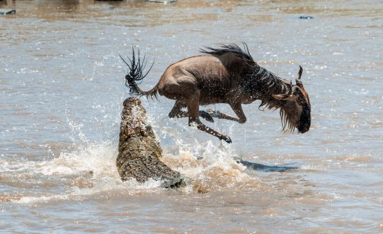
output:
[[[190,98],[186,101],[187,110],[189,111],[189,125],[196,124],[198,130],[203,132],[208,132],[208,134],[212,134],[215,137],[218,137],[220,140],[224,140],[227,143],[231,143],[231,139],[228,136],[220,134],[219,132],[213,130],[210,127],[206,127],[201,120],[199,119],[199,99],[198,95],[194,95],[193,98]]]

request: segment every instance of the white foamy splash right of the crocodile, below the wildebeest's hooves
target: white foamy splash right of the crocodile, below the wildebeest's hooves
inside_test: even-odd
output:
[[[181,144],[179,153],[166,153],[163,160],[191,180],[188,192],[193,192],[191,187],[203,187],[202,192],[208,192],[222,187],[234,187],[249,180],[259,182],[246,173],[245,166],[235,162],[235,157],[237,155],[227,144],[217,146],[208,141],[203,144]]]

